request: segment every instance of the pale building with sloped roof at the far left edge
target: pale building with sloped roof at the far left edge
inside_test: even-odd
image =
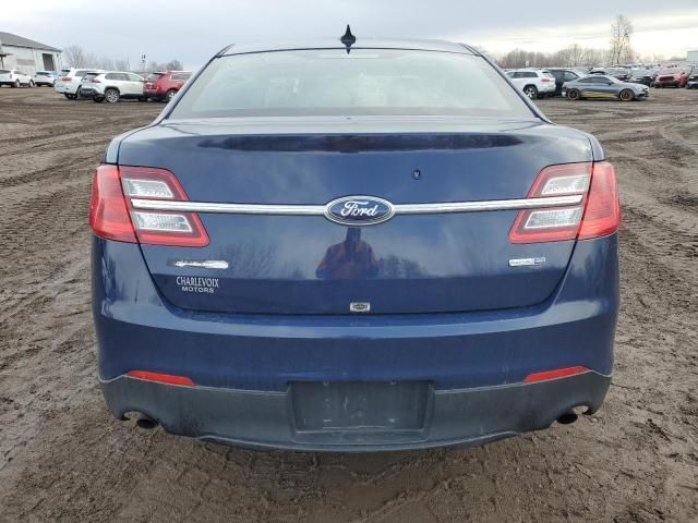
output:
[[[59,71],[60,49],[11,33],[0,32],[0,69],[19,69],[23,73]]]

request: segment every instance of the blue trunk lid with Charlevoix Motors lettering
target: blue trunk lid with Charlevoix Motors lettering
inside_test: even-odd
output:
[[[438,129],[440,132],[434,132]],[[581,133],[535,121],[266,119],[154,125],[119,163],[174,173],[197,203],[323,207],[525,198],[546,166],[591,161]],[[221,313],[489,311],[553,293],[574,241],[513,244],[517,210],[397,215],[370,227],[324,216],[200,212],[204,247],[142,245],[176,306]]]

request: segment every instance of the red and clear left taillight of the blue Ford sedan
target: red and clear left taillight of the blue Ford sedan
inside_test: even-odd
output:
[[[146,245],[208,245],[208,234],[195,212],[134,209],[132,198],[189,200],[174,174],[165,169],[99,166],[89,205],[94,233]]]

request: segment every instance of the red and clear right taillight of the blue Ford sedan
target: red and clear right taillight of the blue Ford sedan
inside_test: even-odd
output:
[[[614,232],[621,224],[621,204],[613,166],[585,162],[551,166],[533,182],[528,198],[575,196],[565,207],[520,210],[509,231],[512,243],[586,240]]]

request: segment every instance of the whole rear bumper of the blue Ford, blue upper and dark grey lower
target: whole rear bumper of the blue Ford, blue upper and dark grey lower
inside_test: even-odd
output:
[[[139,245],[95,239],[93,312],[99,377],[115,416],[137,411],[167,430],[304,450],[477,445],[595,411],[609,386],[618,308],[617,235],[580,241],[539,305],[453,314],[242,315],[183,311],[154,287]],[[524,384],[531,373],[591,372]],[[127,377],[147,370],[194,387]],[[428,382],[419,434],[294,429],[297,382]],[[400,439],[401,438],[401,439]]]

